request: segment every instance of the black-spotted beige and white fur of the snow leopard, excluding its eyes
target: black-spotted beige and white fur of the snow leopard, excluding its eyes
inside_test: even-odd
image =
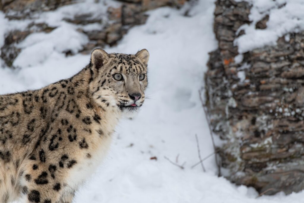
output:
[[[142,106],[148,59],[145,49],[95,49],[69,79],[0,95],[0,202],[71,202],[106,155],[119,118]]]

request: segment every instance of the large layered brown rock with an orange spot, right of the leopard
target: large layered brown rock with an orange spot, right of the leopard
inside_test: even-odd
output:
[[[222,167],[229,180],[260,193],[298,192],[304,188],[304,32],[251,50],[237,63],[232,41],[249,14],[247,2],[216,1],[219,48],[210,53],[205,81],[212,130],[226,141]]]

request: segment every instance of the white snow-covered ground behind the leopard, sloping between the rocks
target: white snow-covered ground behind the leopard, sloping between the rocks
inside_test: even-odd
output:
[[[191,10],[191,17],[183,15],[185,8],[164,7],[150,11],[145,25],[132,28],[117,47],[105,48],[107,52],[135,53],[142,48],[150,52],[146,93],[150,99],[145,101],[138,117],[120,122],[108,158],[80,188],[75,202],[303,201],[304,192],[256,198],[258,194],[253,188],[235,186],[217,177],[214,156],[204,162],[206,172],[200,166],[191,169],[199,161],[195,134],[199,138],[201,156],[213,152],[198,94],[203,85],[208,52],[217,47],[212,31],[213,10],[213,0],[200,0]],[[0,23],[8,24],[3,15],[0,15]],[[61,46],[65,43],[76,46],[71,39],[81,38],[73,31],[67,32],[65,29],[73,29],[68,26],[60,24],[57,35],[29,36],[20,45],[29,50],[19,55],[21,69],[0,68],[0,94],[40,88],[81,70],[88,63],[89,55],[66,58],[61,54]],[[3,30],[0,26],[0,44]],[[62,42],[60,37],[67,41]],[[47,52],[42,53],[43,44]],[[184,169],[169,163],[164,156],[180,165],[185,162]]]

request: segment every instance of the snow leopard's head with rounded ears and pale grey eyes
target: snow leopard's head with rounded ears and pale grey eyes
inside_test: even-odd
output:
[[[134,54],[108,54],[95,49],[91,54],[90,90],[96,103],[117,107],[126,117],[133,117],[143,105],[148,85],[146,49]]]

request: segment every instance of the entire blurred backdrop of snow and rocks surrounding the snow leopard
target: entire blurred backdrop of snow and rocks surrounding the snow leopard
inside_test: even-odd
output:
[[[150,52],[149,98],[74,202],[302,202],[302,0],[0,0],[0,10],[0,94],[69,78],[96,47]]]

